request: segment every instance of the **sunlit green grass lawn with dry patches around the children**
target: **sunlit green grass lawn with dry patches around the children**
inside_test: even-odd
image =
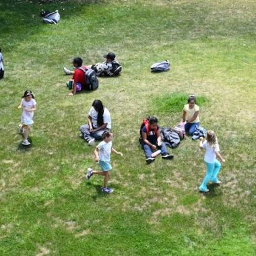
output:
[[[0,255],[255,255],[256,2],[82,2],[0,2]],[[61,22],[42,24],[41,9],[59,9]],[[75,56],[96,63],[108,51],[122,75],[67,97],[63,65]],[[171,71],[150,73],[165,59]],[[30,150],[18,134],[26,89],[38,102]],[[137,142],[148,115],[177,125],[189,94],[226,158],[222,186],[205,196],[198,141],[182,141],[172,162],[150,166]],[[101,177],[86,181],[96,164],[78,137],[96,98],[125,154],[113,155],[108,196]]]

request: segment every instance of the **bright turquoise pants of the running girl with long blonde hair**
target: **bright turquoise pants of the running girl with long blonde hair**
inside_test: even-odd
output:
[[[201,191],[207,191],[207,183],[209,181],[212,181],[212,183],[218,182],[218,174],[222,167],[218,160],[215,160],[213,164],[210,164],[209,162],[205,162],[205,164],[207,166],[207,171],[203,183],[201,183],[201,186],[199,187]]]

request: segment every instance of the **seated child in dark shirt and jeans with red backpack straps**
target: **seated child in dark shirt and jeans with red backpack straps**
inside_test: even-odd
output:
[[[154,162],[158,154],[162,154],[162,159],[171,160],[173,158],[167,151],[166,145],[162,143],[160,127],[158,126],[158,119],[156,117],[151,117],[148,124],[142,128],[141,137],[148,164]]]

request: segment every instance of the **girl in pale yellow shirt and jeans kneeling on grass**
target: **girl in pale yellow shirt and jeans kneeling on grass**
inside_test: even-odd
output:
[[[183,123],[185,124],[185,131],[189,135],[193,135],[195,132],[195,127],[200,125],[199,120],[199,106],[196,104],[197,99],[194,95],[189,96],[187,100],[188,104],[185,104],[183,108]]]

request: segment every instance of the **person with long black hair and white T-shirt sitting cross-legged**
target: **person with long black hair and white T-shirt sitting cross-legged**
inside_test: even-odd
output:
[[[80,127],[81,137],[90,146],[94,145],[95,139],[101,140],[105,131],[111,130],[111,117],[107,108],[100,100],[94,100],[88,115],[88,124]]]

